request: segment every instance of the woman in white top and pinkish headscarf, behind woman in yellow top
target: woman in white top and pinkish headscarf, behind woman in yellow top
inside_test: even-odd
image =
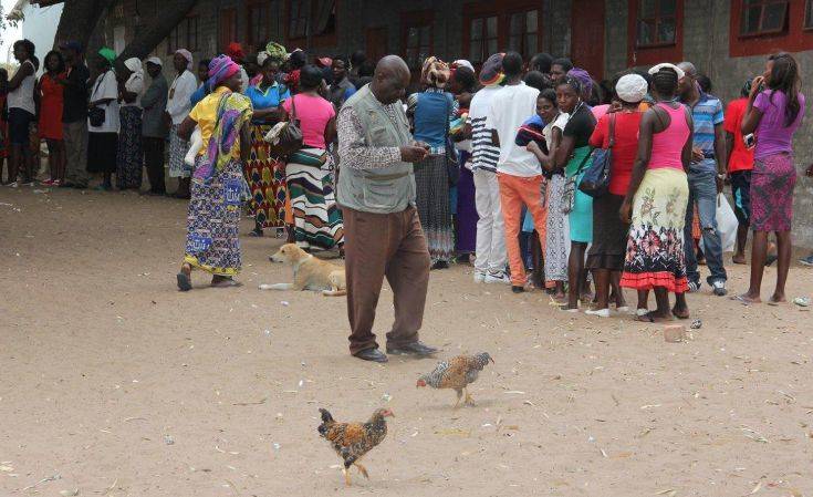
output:
[[[180,123],[186,120],[191,108],[191,96],[197,87],[192,69],[192,54],[186,49],[178,49],[173,56],[173,66],[177,75],[169,85],[167,97],[167,115],[171,122],[169,128],[169,177],[178,178],[176,198],[189,198],[189,177],[191,172],[184,163],[184,157],[189,152],[189,142],[178,135]]]

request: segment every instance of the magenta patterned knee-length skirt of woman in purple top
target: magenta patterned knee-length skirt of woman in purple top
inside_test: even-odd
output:
[[[791,154],[774,154],[753,163],[751,173],[751,229],[790,231],[796,168]]]

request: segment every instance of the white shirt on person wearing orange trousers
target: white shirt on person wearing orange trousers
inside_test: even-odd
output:
[[[491,97],[487,125],[500,137],[497,172],[511,176],[539,176],[542,166],[536,156],[515,144],[517,132],[528,117],[536,113],[539,90],[525,83],[503,86]]]

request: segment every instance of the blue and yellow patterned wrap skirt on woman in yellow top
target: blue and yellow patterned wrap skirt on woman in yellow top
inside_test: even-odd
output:
[[[196,159],[196,166],[202,155]],[[186,257],[194,268],[218,276],[240,272],[242,164],[231,158],[208,182],[191,182],[187,215]]]

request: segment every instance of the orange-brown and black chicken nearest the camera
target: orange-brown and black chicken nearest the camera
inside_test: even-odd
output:
[[[366,423],[336,423],[327,410],[320,408],[319,412],[322,413],[322,424],[316,429],[344,460],[342,468],[344,483],[351,485],[351,466],[357,467],[358,472],[369,479],[367,469],[359,464],[359,460],[387,436],[387,422],[384,418],[394,417],[393,412],[388,408],[376,410]]]

